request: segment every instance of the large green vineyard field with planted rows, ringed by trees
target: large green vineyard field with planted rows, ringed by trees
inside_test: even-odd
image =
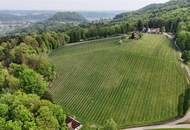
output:
[[[178,116],[187,88],[177,52],[162,35],[88,42],[54,51],[55,101],[83,124],[144,125]]]

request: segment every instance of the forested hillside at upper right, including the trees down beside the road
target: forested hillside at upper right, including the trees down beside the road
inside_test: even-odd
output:
[[[176,34],[177,45],[184,50],[190,50],[190,1],[175,0],[164,4],[151,4],[140,10],[119,14],[116,21],[137,23],[137,30],[143,25],[149,28],[160,28],[161,32]],[[119,23],[118,22],[118,23]],[[144,24],[143,24],[144,23]],[[185,61],[188,60],[184,52]]]

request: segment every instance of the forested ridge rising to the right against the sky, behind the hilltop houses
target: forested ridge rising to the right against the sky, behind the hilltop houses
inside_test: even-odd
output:
[[[189,0],[170,0],[163,4],[150,4],[137,11],[118,14],[114,19],[116,21],[148,21],[151,19],[160,19],[161,21],[175,19],[186,20],[190,14],[189,10]]]

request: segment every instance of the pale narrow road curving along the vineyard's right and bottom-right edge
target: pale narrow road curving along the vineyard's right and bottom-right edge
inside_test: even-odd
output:
[[[164,35],[167,36],[171,40],[174,39],[174,36],[172,36],[172,35],[169,35],[167,33],[164,33]],[[188,76],[187,80],[189,82],[189,79],[190,79],[189,67],[183,63],[183,60],[181,59],[181,50],[177,46],[176,41],[174,41],[174,45],[175,45],[177,51],[179,52],[179,60],[181,61],[181,68],[186,71],[186,74]],[[190,128],[190,124],[181,124],[181,123],[186,122],[188,120],[190,120],[190,112],[187,112],[187,114],[183,118],[180,118],[180,119],[168,122],[168,123],[164,123],[161,125],[135,127],[135,128],[128,128],[128,129],[123,129],[123,130],[152,130],[152,129],[160,129],[160,128]]]

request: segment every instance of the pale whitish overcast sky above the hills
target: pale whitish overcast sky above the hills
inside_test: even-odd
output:
[[[136,10],[169,0],[0,0],[0,10],[105,11]]]

